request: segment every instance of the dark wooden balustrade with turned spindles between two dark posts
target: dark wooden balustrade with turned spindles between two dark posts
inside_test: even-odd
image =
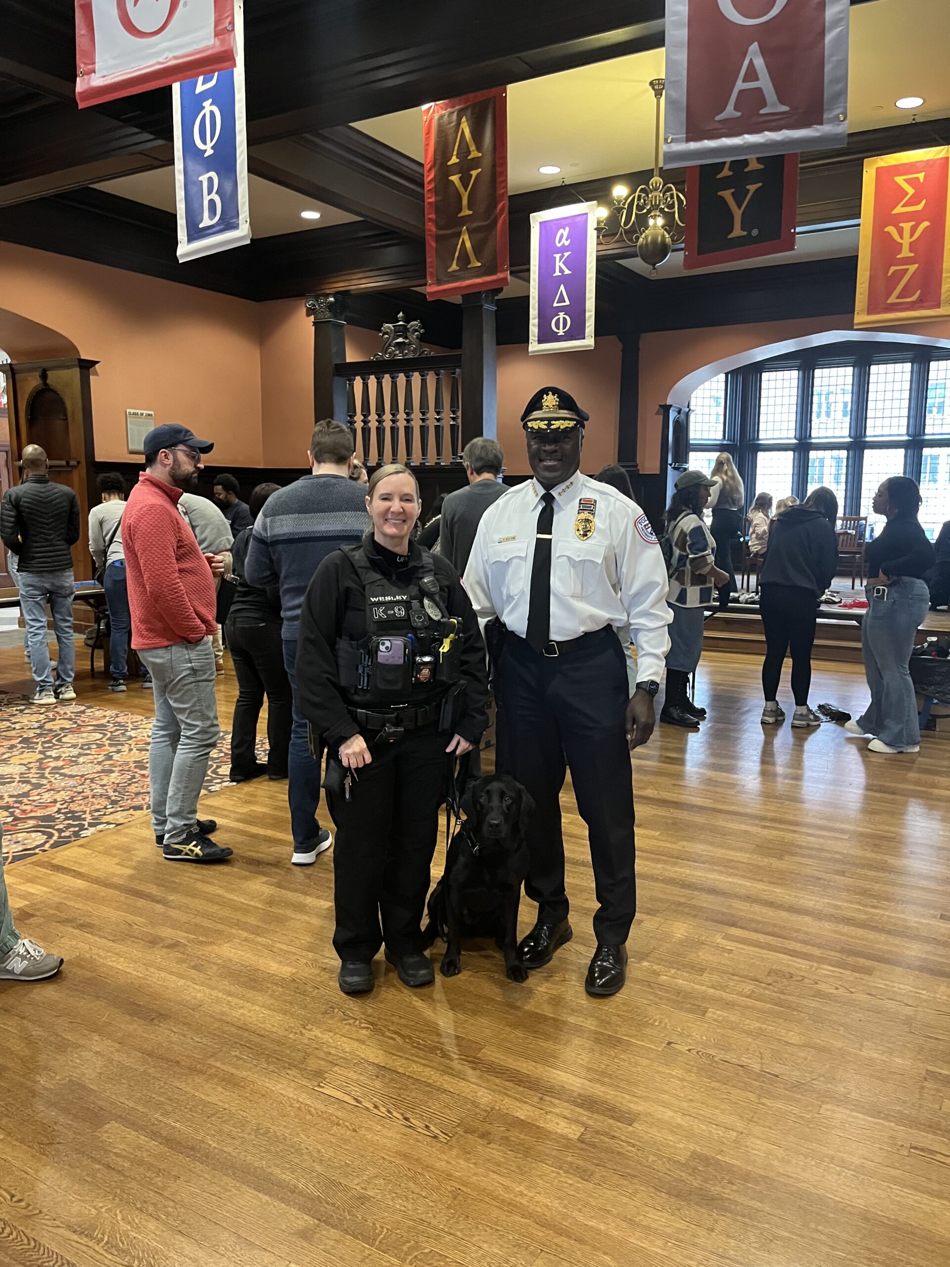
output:
[[[366,466],[446,466],[461,461],[461,356],[343,361],[333,372],[346,380],[346,421],[356,455]]]

